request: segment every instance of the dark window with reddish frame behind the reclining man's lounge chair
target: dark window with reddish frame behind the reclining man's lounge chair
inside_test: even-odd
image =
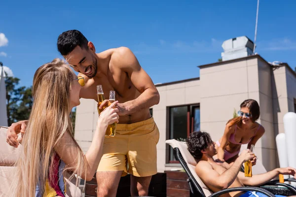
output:
[[[200,131],[199,105],[185,105],[169,108],[169,139],[186,141],[191,132]],[[170,147],[169,163],[179,163]]]

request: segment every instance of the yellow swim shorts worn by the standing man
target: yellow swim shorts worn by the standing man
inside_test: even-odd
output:
[[[121,171],[145,177],[157,173],[156,144],[159,131],[153,120],[117,124],[115,137],[105,137],[97,171]]]

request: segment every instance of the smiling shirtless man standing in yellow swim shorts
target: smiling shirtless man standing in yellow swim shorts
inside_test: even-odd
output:
[[[102,85],[106,99],[114,90],[119,101],[116,136],[105,137],[104,155],[97,170],[98,197],[115,197],[120,177],[127,173],[131,174],[131,195],[148,196],[151,176],[157,173],[159,139],[149,111],[159,102],[152,80],[126,47],[96,53],[94,44],[77,30],[59,35],[57,47],[79,76],[85,78],[80,98],[98,101],[96,86]],[[12,125],[7,132],[11,145],[17,145],[15,134],[20,132],[21,123]]]

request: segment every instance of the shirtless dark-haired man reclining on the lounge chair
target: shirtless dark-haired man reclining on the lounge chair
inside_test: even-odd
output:
[[[227,163],[216,162],[213,156],[217,154],[215,142],[207,132],[193,132],[187,139],[188,151],[195,158],[197,165],[195,171],[204,184],[213,192],[226,188],[260,186],[279,174],[289,174],[296,177],[296,169],[292,167],[276,168],[269,172],[245,177],[240,171],[244,162],[252,160],[255,155],[249,149],[242,151],[241,155],[230,166]],[[222,195],[224,197],[266,197],[262,193],[255,192],[231,192]],[[278,195],[276,195],[278,196]],[[281,197],[281,196],[278,196]]]

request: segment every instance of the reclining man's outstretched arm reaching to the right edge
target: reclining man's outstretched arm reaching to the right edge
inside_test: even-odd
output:
[[[274,170],[271,170],[269,172],[263,173],[263,174],[257,174],[253,175],[252,177],[245,177],[245,174],[243,172],[240,172],[238,174],[239,180],[247,186],[259,186],[263,185],[264,183],[274,179],[279,174],[284,175],[293,175],[296,177],[296,169],[293,167],[285,167],[285,168],[276,168]]]

